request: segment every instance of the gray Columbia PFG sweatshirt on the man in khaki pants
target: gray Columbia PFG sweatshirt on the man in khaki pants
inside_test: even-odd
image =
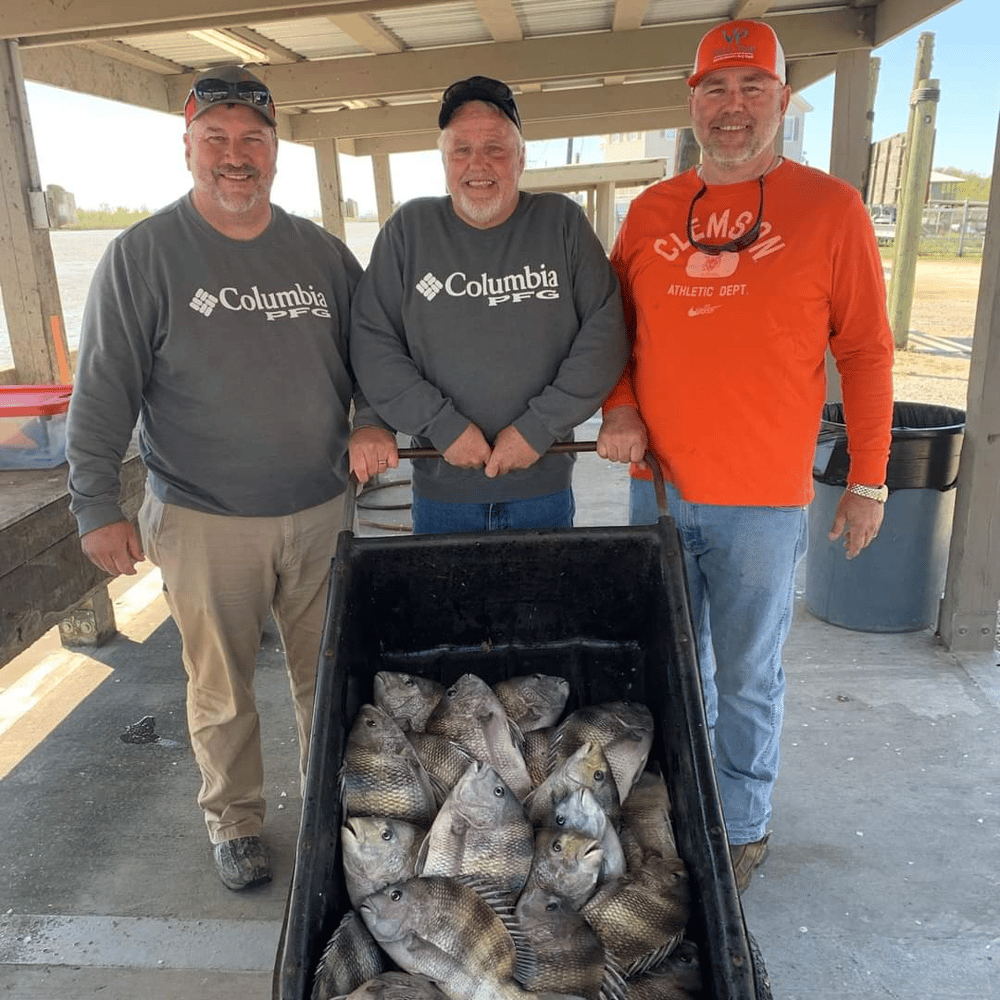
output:
[[[137,419],[150,488],[166,503],[277,516],[341,493],[360,275],[343,243],[277,207],[259,237],[232,240],[185,195],[116,237],[91,283],[70,397],[80,533],[122,519],[119,471]],[[378,423],[356,405],[357,423]]]

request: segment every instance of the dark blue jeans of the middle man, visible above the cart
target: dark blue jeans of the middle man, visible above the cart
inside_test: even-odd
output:
[[[439,535],[449,531],[528,531],[572,528],[576,504],[572,489],[544,497],[503,503],[452,503],[413,495],[413,533]]]

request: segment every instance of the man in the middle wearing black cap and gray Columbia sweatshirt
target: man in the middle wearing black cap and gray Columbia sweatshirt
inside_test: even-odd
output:
[[[449,194],[407,202],[376,239],[354,370],[383,420],[443,456],[414,462],[415,532],[568,527],[572,457],[545,453],[625,364],[618,282],[575,203],[518,190],[506,84],[452,84],[438,125]]]

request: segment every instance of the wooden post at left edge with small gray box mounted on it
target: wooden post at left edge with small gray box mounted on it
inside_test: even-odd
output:
[[[0,294],[22,385],[72,371],[17,42],[0,40]]]

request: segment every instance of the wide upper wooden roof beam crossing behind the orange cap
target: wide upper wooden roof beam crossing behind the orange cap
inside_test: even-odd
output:
[[[869,8],[792,14],[781,19],[789,61],[871,47]],[[681,24],[600,34],[530,38],[476,46],[476,68],[486,76],[521,83],[556,82],[633,73],[686,75],[704,26]],[[259,75],[279,104],[309,105],[401,93],[440,93],[468,75],[469,49],[455,46],[357,59],[325,59],[295,66],[261,67]],[[179,110],[190,86],[168,80],[171,107]]]

